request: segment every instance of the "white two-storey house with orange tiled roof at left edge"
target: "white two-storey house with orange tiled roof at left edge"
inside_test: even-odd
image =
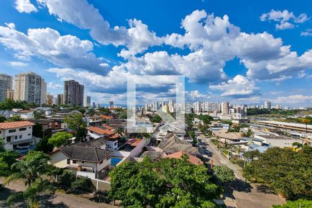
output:
[[[6,150],[28,149],[35,144],[33,125],[30,121],[0,123],[0,137]]]

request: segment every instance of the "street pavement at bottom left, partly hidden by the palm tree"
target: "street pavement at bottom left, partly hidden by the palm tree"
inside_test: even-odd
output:
[[[0,178],[0,182],[3,183],[4,178]],[[6,199],[10,195],[10,193],[14,193],[14,191],[23,191],[24,184],[21,181],[12,182],[6,188],[0,191],[0,207],[6,206]],[[10,207],[27,207],[25,202],[17,202]],[[87,199],[78,198],[73,194],[65,194],[56,192],[54,196],[49,198],[42,198],[40,200],[40,207],[80,207],[80,208],[110,208],[110,205],[103,205],[92,202]]]

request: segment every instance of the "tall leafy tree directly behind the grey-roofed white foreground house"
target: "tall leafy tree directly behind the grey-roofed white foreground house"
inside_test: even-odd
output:
[[[83,114],[80,113],[72,113],[68,116],[65,116],[64,122],[67,123],[68,128],[75,131],[76,140],[80,141],[85,139],[86,132],[85,128],[87,124],[83,121]]]

